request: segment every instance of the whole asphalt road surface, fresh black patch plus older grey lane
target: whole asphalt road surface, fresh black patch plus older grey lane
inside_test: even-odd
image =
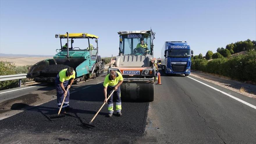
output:
[[[0,143],[256,143],[255,109],[188,77],[164,74],[153,102],[123,102],[123,116],[112,118],[105,117],[104,106],[90,127],[103,101],[102,83],[96,84],[102,79],[76,88],[73,111],[63,118],[49,118],[57,110],[53,100],[1,120]],[[255,99],[200,81],[256,105]]]

